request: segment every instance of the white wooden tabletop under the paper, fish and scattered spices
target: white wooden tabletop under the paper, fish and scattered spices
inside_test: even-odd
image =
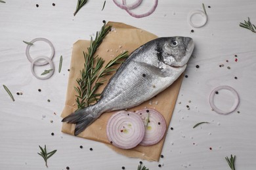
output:
[[[43,159],[37,155],[38,145],[44,144],[49,150],[58,150],[49,159],[49,169],[66,169],[67,166],[90,170],[121,169],[122,166],[127,170],[137,169],[139,159],[126,158],[102,143],[60,132],[72,45],[78,39],[89,39],[101,27],[102,20],[125,22],[159,37],[189,36],[196,43],[194,58],[186,69],[188,78],[184,78],[179,93],[178,103],[181,104],[177,103],[171,120],[170,127],[174,129],[169,127],[167,131],[164,158],[159,163],[143,161],[146,167],[150,170],[230,169],[224,157],[233,154],[236,169],[256,168],[256,33],[239,27],[248,16],[256,24],[256,1],[162,0],[154,14],[141,19],[132,18],[110,0],[106,1],[104,10],[101,10],[103,0],[89,1],[75,17],[76,1],[5,1],[7,3],[0,3],[0,169],[46,169]],[[188,25],[187,14],[202,9],[202,3],[208,22],[190,33],[192,27]],[[150,5],[151,1],[144,1],[140,10],[149,9]],[[57,69],[49,80],[36,79],[26,59],[26,44],[22,41],[36,37],[45,37],[54,44],[53,61]],[[42,43],[41,48],[32,50],[32,55],[47,56],[48,49]],[[63,65],[58,73],[61,55]],[[221,64],[224,67],[219,67]],[[196,69],[196,65],[200,68]],[[228,66],[231,69],[227,69]],[[11,90],[14,102],[2,84]],[[232,86],[241,99],[238,109],[227,116],[213,112],[208,103],[211,90],[221,85]],[[41,92],[37,91],[39,88]],[[16,95],[16,92],[23,95]],[[218,105],[232,105],[228,101],[232,97],[223,93],[220,93],[223,102]],[[192,128],[202,121],[210,124]],[[91,147],[93,151],[89,150]]]

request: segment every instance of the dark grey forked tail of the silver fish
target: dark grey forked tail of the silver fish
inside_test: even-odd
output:
[[[93,111],[92,107],[86,107],[85,109],[78,110],[62,119],[62,122],[68,124],[75,124],[75,133],[77,136],[79,133],[84,131],[90,124],[100,116],[101,112]]]

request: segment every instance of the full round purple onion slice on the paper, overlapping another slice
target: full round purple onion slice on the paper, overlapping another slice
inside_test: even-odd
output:
[[[108,120],[106,135],[110,143],[118,148],[129,149],[137,146],[145,133],[144,124],[135,112],[116,112]]]

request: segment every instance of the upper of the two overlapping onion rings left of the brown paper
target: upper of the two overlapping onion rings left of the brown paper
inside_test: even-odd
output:
[[[31,43],[33,42],[36,42],[36,41],[44,41],[44,42],[47,42],[50,47],[51,47],[51,50],[52,50],[52,53],[51,53],[51,56],[50,56],[50,59],[53,59],[53,56],[54,56],[54,47],[53,47],[53,44],[51,41],[49,41],[48,39],[45,39],[45,38],[36,38],[36,39],[33,39],[32,41],[30,41]],[[26,56],[28,58],[28,60],[30,61],[30,63],[32,63],[33,59],[31,58],[30,56],[30,46],[31,45],[28,45],[27,48],[26,48]],[[37,65],[37,66],[40,66],[40,65],[47,65],[47,61],[44,61],[44,62],[35,62],[33,63],[34,65]]]

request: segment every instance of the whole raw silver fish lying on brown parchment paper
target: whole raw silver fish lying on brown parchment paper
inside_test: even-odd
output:
[[[194,50],[189,37],[161,37],[140,46],[117,69],[95,105],[74,112],[62,122],[81,133],[102,113],[140,105],[169,87],[186,69]]]

